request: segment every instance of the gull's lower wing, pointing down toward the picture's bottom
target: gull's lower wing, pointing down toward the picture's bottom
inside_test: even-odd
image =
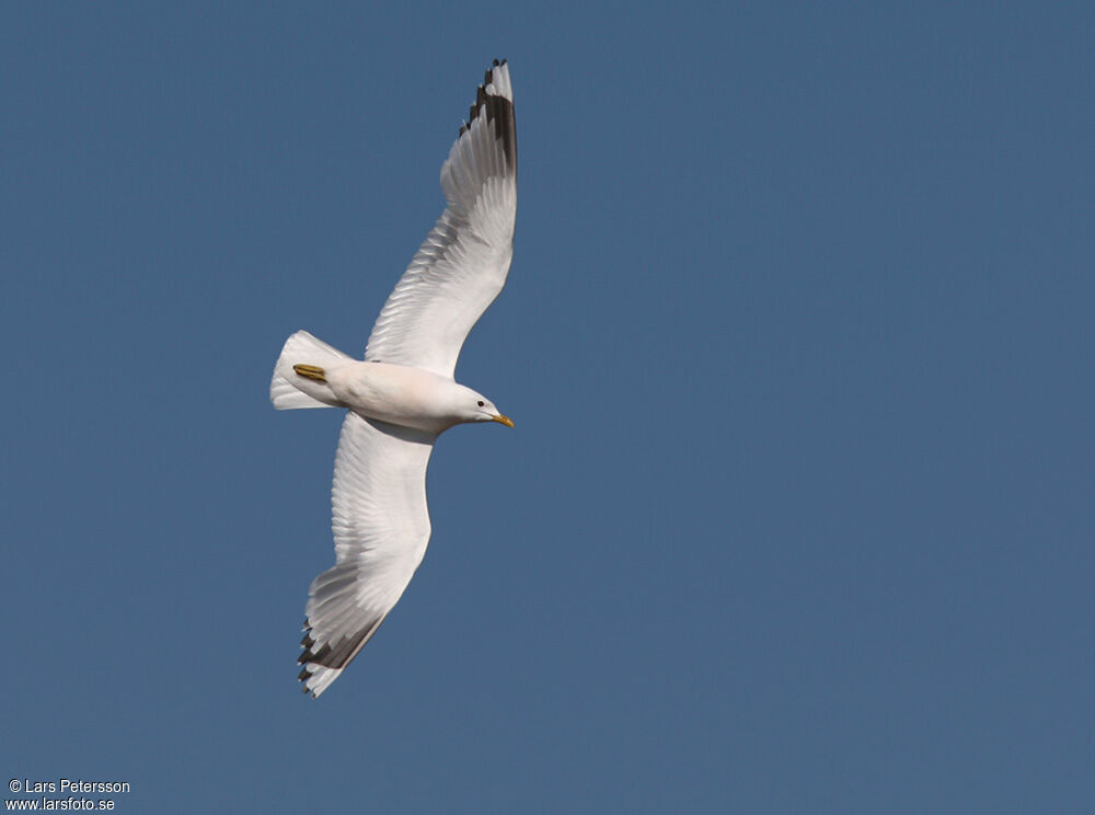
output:
[[[348,413],[331,487],[335,566],[308,592],[304,692],[322,693],[369,641],[426,553],[436,434]]]

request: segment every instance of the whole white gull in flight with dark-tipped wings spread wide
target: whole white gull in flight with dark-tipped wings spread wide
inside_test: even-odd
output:
[[[298,331],[270,380],[278,410],[343,408],[331,487],[335,565],[308,592],[303,691],[320,696],[399,601],[426,553],[426,464],[465,422],[514,423],[453,378],[468,333],[506,284],[517,217],[514,93],[506,60],[486,71],[441,167],[446,208],[356,359]]]

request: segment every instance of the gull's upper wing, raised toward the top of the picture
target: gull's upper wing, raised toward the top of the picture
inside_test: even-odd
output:
[[[441,168],[441,188],[448,206],[384,303],[365,358],[451,377],[514,257],[517,130],[505,61],[486,72]]]

